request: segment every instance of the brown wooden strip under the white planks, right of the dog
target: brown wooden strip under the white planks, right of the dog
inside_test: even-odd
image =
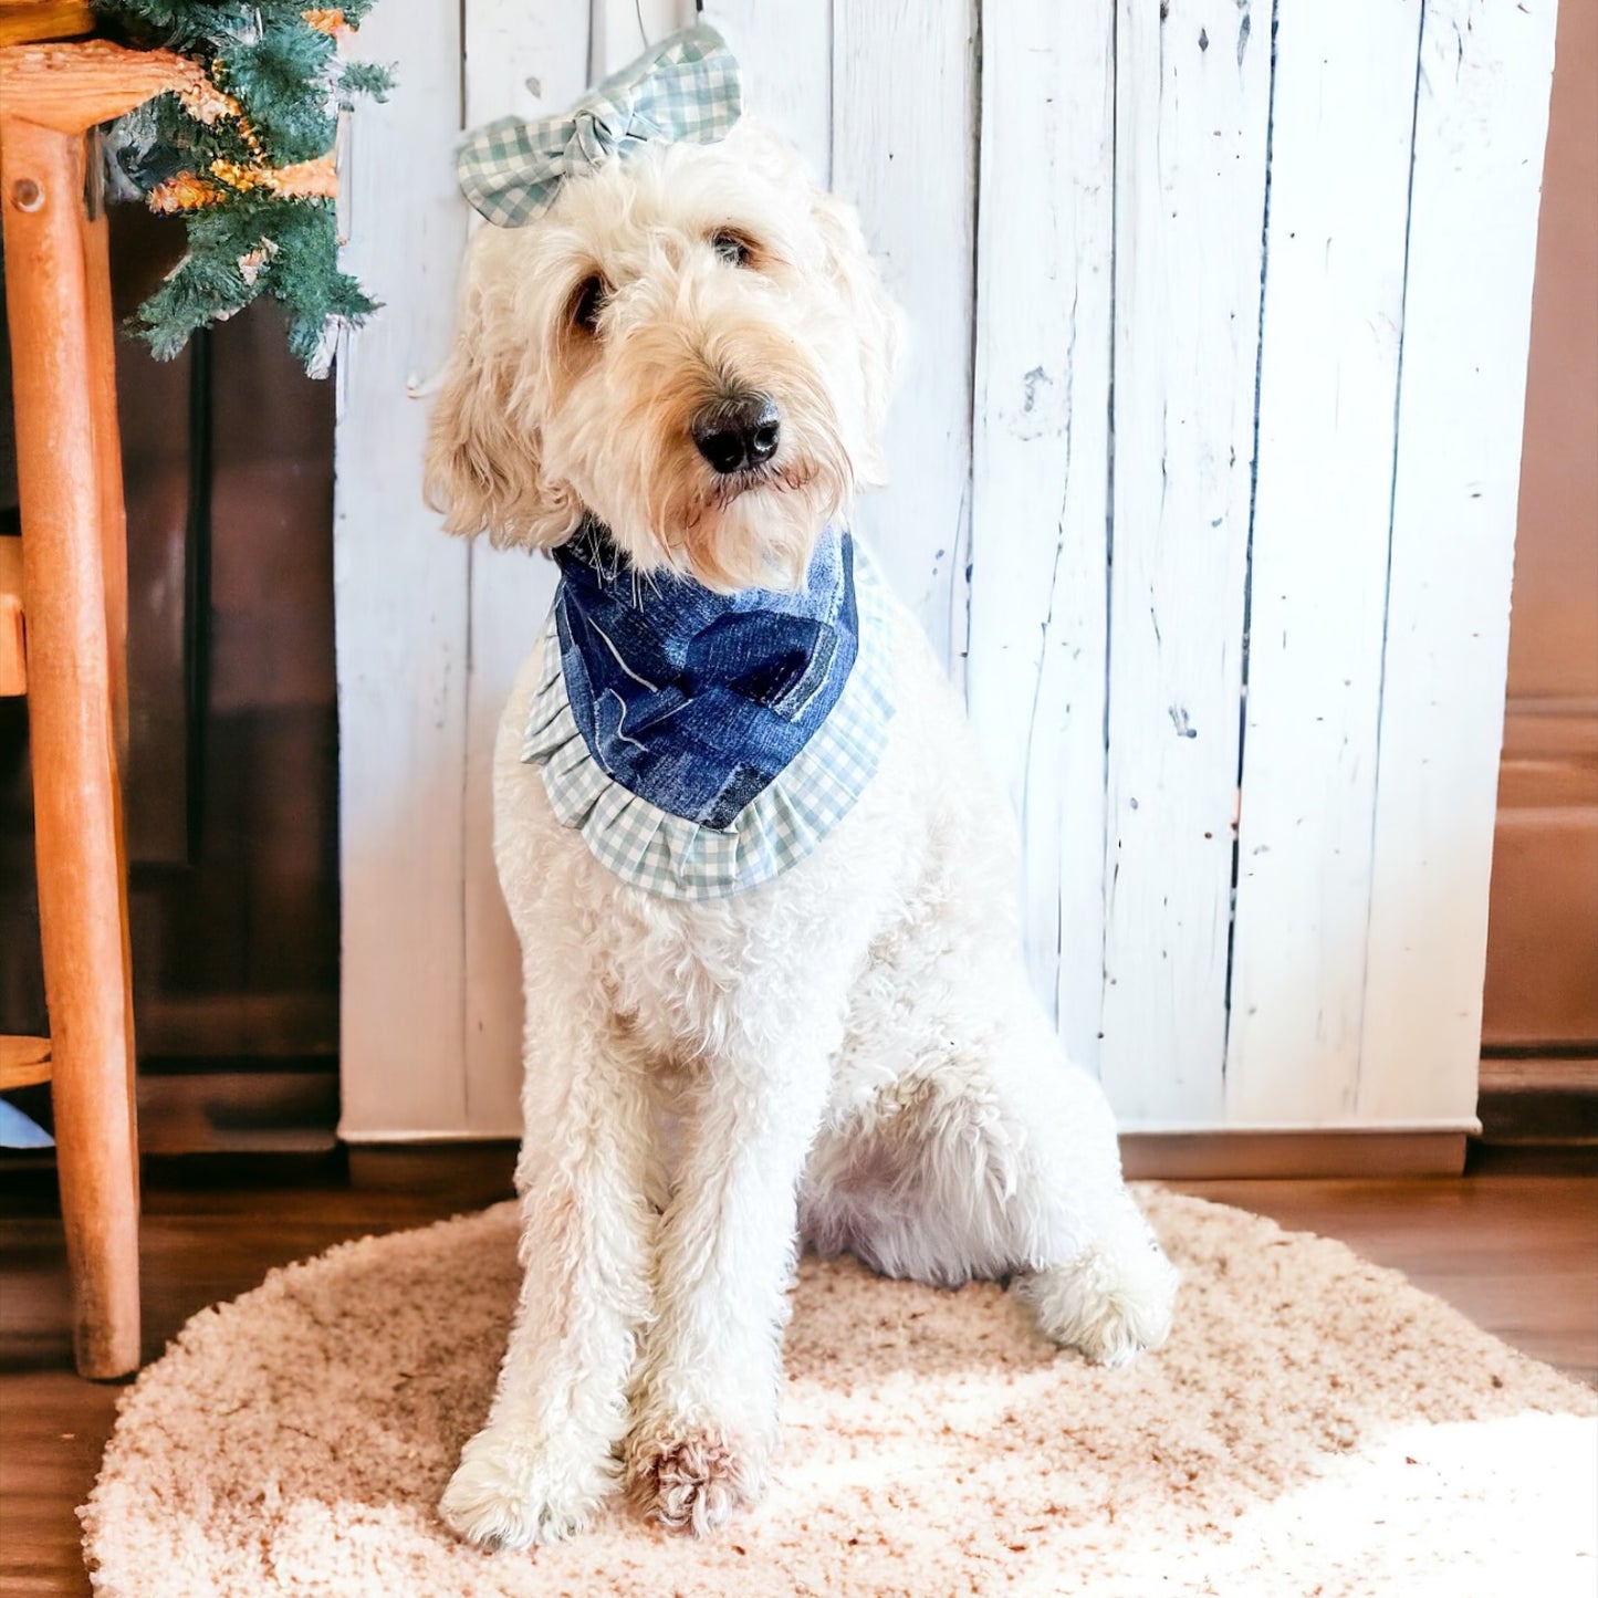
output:
[[[1280,1176],[1459,1176],[1465,1131],[1127,1131],[1135,1179]]]

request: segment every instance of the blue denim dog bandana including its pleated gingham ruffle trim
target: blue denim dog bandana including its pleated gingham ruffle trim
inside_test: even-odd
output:
[[[586,524],[556,550],[523,759],[623,880],[721,898],[809,855],[876,773],[893,714],[880,578],[829,527],[793,593],[641,577]]]

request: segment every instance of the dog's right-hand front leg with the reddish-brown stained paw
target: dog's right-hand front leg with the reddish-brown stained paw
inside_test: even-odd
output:
[[[700,1536],[759,1496],[777,1443],[796,1192],[834,1047],[807,1020],[703,1061],[662,1219],[628,1485],[646,1512]]]

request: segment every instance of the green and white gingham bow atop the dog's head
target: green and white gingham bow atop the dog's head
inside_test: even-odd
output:
[[[703,22],[646,51],[590,89],[564,117],[500,117],[467,137],[460,192],[495,227],[524,227],[566,177],[628,160],[649,141],[714,144],[743,109],[738,62]]]

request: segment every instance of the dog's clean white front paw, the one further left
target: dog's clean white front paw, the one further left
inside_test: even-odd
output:
[[[479,1548],[526,1548],[583,1531],[615,1486],[615,1461],[562,1457],[491,1425],[460,1451],[438,1513]]]

